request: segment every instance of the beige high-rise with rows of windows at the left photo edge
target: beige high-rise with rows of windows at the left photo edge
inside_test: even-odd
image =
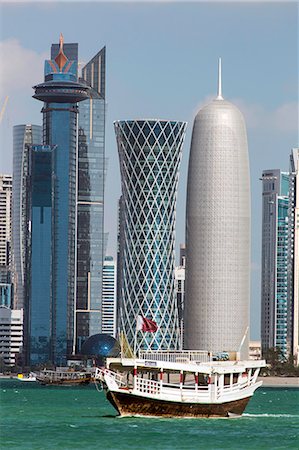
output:
[[[12,176],[0,174],[0,266],[10,266]]]

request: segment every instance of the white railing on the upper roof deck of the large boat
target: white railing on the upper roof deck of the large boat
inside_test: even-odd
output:
[[[149,361],[164,361],[172,363],[202,363],[212,360],[211,353],[204,350],[160,350],[160,351],[139,351],[139,358]]]

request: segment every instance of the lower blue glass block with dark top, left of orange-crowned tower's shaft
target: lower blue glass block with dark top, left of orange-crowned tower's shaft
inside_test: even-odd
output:
[[[31,364],[52,359],[51,250],[54,149],[50,146],[32,146],[29,158],[31,282],[28,335]]]

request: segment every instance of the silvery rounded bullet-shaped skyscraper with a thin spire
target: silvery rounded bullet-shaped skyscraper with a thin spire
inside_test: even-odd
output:
[[[186,214],[186,349],[248,354],[250,183],[242,114],[218,96],[193,124]]]

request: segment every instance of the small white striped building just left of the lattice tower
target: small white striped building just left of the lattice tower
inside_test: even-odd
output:
[[[106,256],[103,266],[102,333],[116,337],[116,262]]]

